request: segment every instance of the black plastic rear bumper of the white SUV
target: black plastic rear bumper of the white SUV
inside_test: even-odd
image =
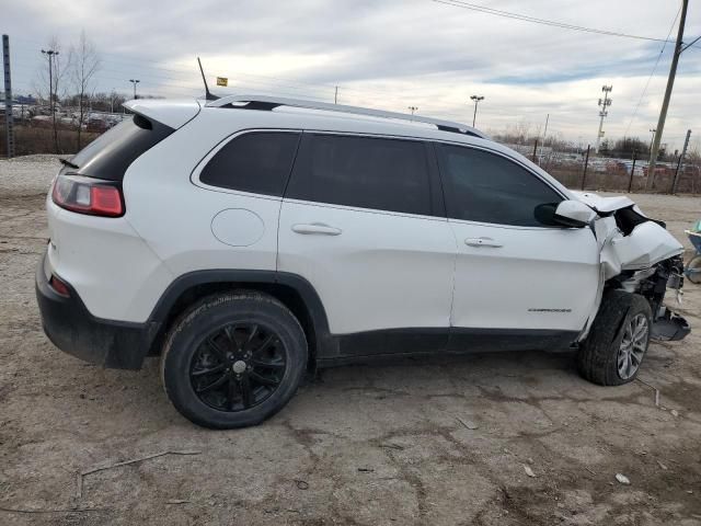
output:
[[[139,369],[150,347],[150,323],[103,320],[93,317],[70,286],[70,296],[49,285],[46,254],[36,268],[36,300],[42,327],[48,339],[65,353],[91,364],[118,369]]]

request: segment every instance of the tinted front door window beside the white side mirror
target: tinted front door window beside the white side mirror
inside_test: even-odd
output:
[[[536,206],[562,197],[516,162],[474,148],[437,145],[448,217],[542,227]]]

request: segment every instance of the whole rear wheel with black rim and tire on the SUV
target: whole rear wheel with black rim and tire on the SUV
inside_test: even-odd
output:
[[[220,294],[173,324],[161,377],[175,409],[195,424],[245,427],[285,407],[304,375],[307,354],[304,331],[277,299]]]

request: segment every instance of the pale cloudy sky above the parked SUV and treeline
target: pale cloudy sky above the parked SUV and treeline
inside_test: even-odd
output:
[[[453,1],[453,0],[450,0]],[[471,0],[472,4],[665,39],[680,0]],[[81,30],[102,64],[99,91],[165,96],[202,94],[200,56],[218,92],[261,92],[418,113],[470,123],[471,94],[484,95],[478,127],[517,125],[573,141],[595,141],[597,101],[612,84],[607,137],[650,138],[657,123],[674,45],[568,31],[432,0],[197,2],[26,0],[1,10],[13,50],[15,92],[36,92],[39,49],[55,36],[64,56]],[[687,42],[701,35],[691,2]],[[659,59],[659,60],[658,60]],[[651,73],[657,62],[655,73]],[[645,85],[647,89],[645,91]],[[701,137],[701,41],[683,53],[663,142]]]

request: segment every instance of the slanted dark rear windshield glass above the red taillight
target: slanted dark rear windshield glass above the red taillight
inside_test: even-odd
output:
[[[173,132],[170,126],[141,115],[130,116],[76,153],[70,162],[78,168],[66,170],[90,178],[122,181],[129,164]]]

